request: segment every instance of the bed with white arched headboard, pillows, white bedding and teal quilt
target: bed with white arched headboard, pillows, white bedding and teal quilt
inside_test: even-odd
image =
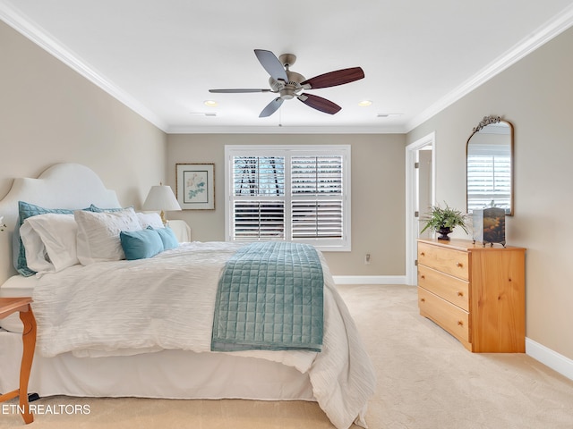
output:
[[[46,209],[36,209],[37,217],[34,222],[26,223],[27,228],[38,229],[42,223],[52,225],[56,218],[58,223],[65,219],[68,226],[74,222],[75,229],[71,231],[77,239],[76,248],[64,249],[57,257],[46,257],[47,253],[56,255],[58,243],[49,246],[49,240],[34,243],[30,231],[14,231],[14,225],[20,223],[20,202],[29,205],[28,209],[30,206]],[[54,213],[56,209],[61,212]],[[312,400],[319,403],[338,429],[347,428],[353,422],[366,427],[366,406],[376,385],[374,371],[320,252],[312,253],[312,257],[318,259],[312,259],[312,263],[304,259],[302,264],[313,266],[313,273],[301,276],[295,271],[295,277],[312,277],[315,285],[320,282],[320,288],[314,285],[312,289],[318,298],[307,299],[309,302],[321,300],[323,306],[316,307],[320,311],[304,307],[300,317],[293,317],[304,320],[303,327],[285,324],[290,326],[285,328],[286,334],[274,332],[272,338],[287,337],[287,344],[284,338],[283,342],[264,340],[262,345],[257,342],[254,346],[244,346],[241,342],[242,346],[237,349],[235,339],[231,341],[235,346],[228,349],[227,332],[220,333],[220,326],[228,324],[229,300],[223,304],[219,300],[227,292],[235,298],[243,295],[233,295],[239,290],[235,285],[227,285],[224,293],[221,285],[231,262],[236,264],[242,257],[237,255],[251,252],[251,245],[174,244],[172,237],[167,237],[162,250],[148,255],[145,252],[153,248],[158,240],[156,235],[163,240],[161,234],[166,231],[158,231],[161,225],[146,226],[145,221],[153,223],[152,217],[135,213],[133,218],[133,213],[132,208],[122,208],[115,192],[106,189],[95,172],[80,164],[56,164],[38,179],[15,179],[12,189],[0,201],[0,215],[4,215],[7,224],[7,231],[0,232],[0,296],[32,296],[32,308],[38,321],[30,392],[42,397]],[[115,250],[106,246],[117,249],[118,239],[115,236],[114,243],[110,244],[106,237],[107,241],[101,245],[105,248],[105,257],[98,259],[102,252],[98,254],[89,246],[86,251],[86,241],[99,240],[98,224],[92,223],[94,219],[107,222],[108,218],[121,221],[120,248],[125,243],[136,244],[133,248],[122,248],[123,257],[107,260],[106,256]],[[133,219],[140,222],[139,228],[129,224],[135,222]],[[62,237],[75,240],[69,231],[58,230],[58,240],[64,240]],[[148,231],[153,232],[148,234]],[[31,275],[15,272],[12,259],[19,256],[20,233],[25,237],[22,242],[25,241],[26,246],[31,243],[28,253],[36,245],[44,246],[36,252],[39,257],[34,266],[46,260],[49,266],[39,265],[38,273]],[[138,234],[144,236],[141,240],[146,246],[141,247],[141,240],[133,239],[130,234],[138,240],[141,239]],[[151,236],[153,243],[148,246],[146,240]],[[124,239],[135,241],[124,242]],[[291,250],[281,251],[288,252],[285,254],[290,257]],[[257,251],[262,250],[257,248]],[[304,248],[304,252],[312,252],[312,249]],[[30,258],[28,263],[32,265]],[[239,266],[244,273],[244,265]],[[252,276],[243,277],[242,287],[250,287],[247,283]],[[292,288],[290,283],[308,290],[308,285],[300,283],[300,279],[291,282],[283,277],[283,274],[269,277],[268,287],[276,288],[273,296],[279,281],[281,290],[287,292],[287,287]],[[134,279],[138,280],[133,282]],[[223,311],[223,307],[218,306],[227,306],[227,309]],[[292,308],[291,316],[295,313]],[[283,325],[283,319],[278,319],[278,309],[273,311],[276,311],[274,319],[269,319],[273,319],[271,329],[276,330]],[[244,321],[240,315],[233,317],[234,325]],[[317,327],[309,327],[315,324]],[[8,391],[18,383],[21,327],[19,320],[10,317],[2,320],[0,327],[3,366],[0,391]],[[220,346],[216,344],[221,341],[226,345],[218,349]]]

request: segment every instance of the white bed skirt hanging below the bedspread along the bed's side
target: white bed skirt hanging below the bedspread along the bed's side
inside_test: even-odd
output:
[[[0,392],[18,386],[21,334],[0,331]],[[163,350],[129,357],[34,357],[30,393],[40,397],[312,400],[308,374],[254,357]]]

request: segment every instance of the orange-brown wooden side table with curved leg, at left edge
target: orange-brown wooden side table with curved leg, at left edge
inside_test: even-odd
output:
[[[4,393],[4,395],[0,396],[0,402],[20,396],[21,417],[26,424],[34,421],[34,416],[30,413],[30,404],[28,403],[28,381],[30,380],[32,359],[36,348],[36,319],[30,307],[31,302],[32,299],[30,297],[0,298],[0,319],[18,311],[20,312],[21,322],[24,324],[24,330],[21,334],[24,349],[21,355],[20,389]]]

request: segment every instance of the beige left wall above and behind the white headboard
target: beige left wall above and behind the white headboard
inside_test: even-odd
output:
[[[0,198],[14,177],[63,162],[89,166],[125,206],[166,180],[163,131],[2,21],[0,57]]]

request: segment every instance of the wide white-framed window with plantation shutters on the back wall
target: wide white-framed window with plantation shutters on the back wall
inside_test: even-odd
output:
[[[229,241],[350,250],[349,146],[227,146]]]

